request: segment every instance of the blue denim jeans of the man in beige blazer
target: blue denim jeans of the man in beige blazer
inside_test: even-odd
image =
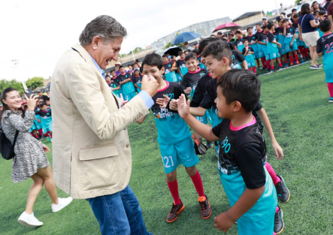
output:
[[[122,191],[87,199],[103,235],[146,235],[142,209],[128,185]]]

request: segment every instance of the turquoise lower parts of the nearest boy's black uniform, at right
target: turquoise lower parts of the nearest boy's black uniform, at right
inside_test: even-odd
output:
[[[244,193],[246,190],[246,185],[244,183],[244,179],[241,176],[241,172],[232,172],[231,175],[227,175],[227,170],[224,168],[221,168],[221,165],[219,164],[219,175],[221,182],[223,184],[223,188],[225,191],[225,194],[228,197],[230,206],[233,206],[238,200],[239,197]],[[275,190],[275,186],[273,184],[273,180],[271,176],[268,174],[268,171],[266,170],[265,166],[262,166],[264,168],[264,171],[266,173],[266,184],[265,184],[265,190],[262,196],[259,198],[257,203],[243,216],[241,216],[240,220],[237,220],[237,223],[241,222],[241,227],[252,227],[250,225],[257,224],[258,221],[262,221],[266,218],[271,218],[271,216],[274,217],[276,206],[278,206],[278,195]],[[239,225],[237,225],[239,226]],[[253,234],[273,234],[273,227],[274,224],[271,225],[271,232],[267,233],[266,228],[259,229],[256,231],[253,231]],[[246,233],[246,235],[252,234],[252,233]]]

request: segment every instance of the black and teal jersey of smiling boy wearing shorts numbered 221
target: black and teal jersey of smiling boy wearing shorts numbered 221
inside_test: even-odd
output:
[[[155,116],[158,132],[157,142],[162,145],[173,145],[190,138],[191,132],[177,111],[171,111],[169,107],[160,108],[160,105],[156,104],[156,99],[164,98],[163,95],[167,95],[171,99],[178,99],[180,95],[185,94],[179,83],[166,82],[167,86],[162,90],[158,90],[157,94],[154,95],[154,105],[151,107],[151,111],[153,111]]]

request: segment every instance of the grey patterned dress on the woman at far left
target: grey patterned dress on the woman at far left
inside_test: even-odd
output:
[[[34,117],[34,111],[27,110],[23,118],[22,111],[15,112],[14,109],[7,110],[2,115],[1,127],[11,143],[14,141],[16,130],[19,131],[14,149],[15,157],[12,159],[14,183],[24,181],[34,175],[37,169],[50,165],[43,149],[44,144],[29,133]]]

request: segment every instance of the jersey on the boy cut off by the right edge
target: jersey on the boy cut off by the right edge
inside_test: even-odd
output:
[[[323,52],[324,70],[333,70],[333,33],[323,35],[317,40],[317,53]]]

